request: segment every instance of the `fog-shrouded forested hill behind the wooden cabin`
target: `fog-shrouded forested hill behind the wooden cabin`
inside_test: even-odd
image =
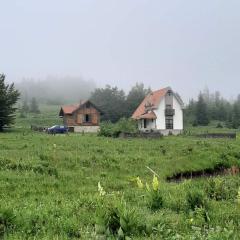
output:
[[[66,104],[88,99],[96,88],[92,80],[81,77],[47,77],[46,79],[26,78],[16,83],[21,92],[22,102],[32,98],[40,103]]]

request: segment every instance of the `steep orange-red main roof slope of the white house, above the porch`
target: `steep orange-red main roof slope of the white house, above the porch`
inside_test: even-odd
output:
[[[165,96],[168,90],[171,88],[163,88],[154,92],[149,93],[144,100],[141,102],[141,104],[138,106],[138,108],[135,110],[135,112],[132,115],[133,119],[139,119],[141,115],[146,113],[145,105],[152,105],[153,108],[157,108],[158,104],[161,101],[161,98]]]

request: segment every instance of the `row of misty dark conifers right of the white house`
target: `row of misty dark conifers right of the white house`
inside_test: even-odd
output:
[[[226,100],[220,92],[210,93],[208,89],[199,93],[198,99],[191,99],[184,110],[185,123],[206,126],[218,121],[218,127],[240,127],[240,95],[233,101]]]

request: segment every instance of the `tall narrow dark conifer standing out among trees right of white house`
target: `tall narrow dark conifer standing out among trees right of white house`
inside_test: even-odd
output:
[[[196,105],[196,124],[197,125],[208,125],[209,117],[207,111],[207,104],[203,98],[202,93],[198,96],[198,101]]]

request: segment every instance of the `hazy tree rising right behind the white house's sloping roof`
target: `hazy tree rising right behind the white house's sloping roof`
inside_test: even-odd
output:
[[[150,92],[151,89],[145,89],[143,83],[136,83],[136,85],[131,88],[126,99],[127,117],[131,117],[145,96]]]

